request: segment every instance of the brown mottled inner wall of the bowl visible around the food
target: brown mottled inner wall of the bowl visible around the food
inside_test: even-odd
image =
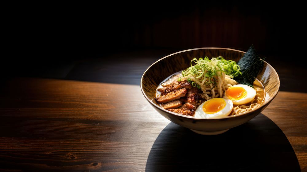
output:
[[[191,60],[196,57],[212,57],[223,56],[227,60],[238,62],[245,52],[229,48],[196,48],[180,51],[161,58],[153,63],[143,74],[141,80],[141,89],[146,99],[153,106],[161,108],[155,101],[156,88],[158,85],[173,73],[187,69]],[[264,63],[263,69],[259,72],[257,79],[263,84],[266,96],[261,106],[269,103],[279,90],[279,77],[275,69],[268,63]],[[161,108],[161,110],[164,110]],[[164,110],[167,111],[167,110]],[[168,111],[169,112],[169,111]]]

